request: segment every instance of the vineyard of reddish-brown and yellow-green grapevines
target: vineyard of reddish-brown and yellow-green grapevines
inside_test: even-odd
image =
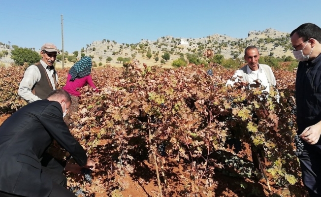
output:
[[[25,68],[0,67],[2,119],[26,104],[17,94]],[[80,90],[70,131],[96,169],[91,182],[67,174],[68,188],[89,197],[307,196],[293,151],[296,72],[274,70],[278,87],[267,95],[259,84],[225,87],[234,71],[217,64],[95,69],[101,92]],[[67,72],[58,70],[60,87]],[[264,152],[263,174],[250,146]]]

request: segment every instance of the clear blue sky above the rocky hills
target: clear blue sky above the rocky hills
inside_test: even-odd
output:
[[[73,52],[96,40],[138,43],[166,35],[215,33],[245,38],[302,23],[321,27],[321,0],[0,0],[0,42],[39,49],[45,42]]]

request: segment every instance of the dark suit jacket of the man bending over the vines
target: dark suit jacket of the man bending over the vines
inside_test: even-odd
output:
[[[0,191],[26,197],[47,197],[51,178],[39,158],[55,139],[75,161],[87,163],[85,150],[71,135],[56,101],[37,100],[13,113],[0,126]]]

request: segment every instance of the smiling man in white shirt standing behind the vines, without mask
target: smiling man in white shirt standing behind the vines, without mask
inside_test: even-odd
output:
[[[236,82],[239,82],[241,86],[248,86],[249,84],[253,84],[256,80],[261,82],[261,85],[265,87],[264,91],[267,92],[270,91],[270,86],[276,86],[276,80],[271,67],[258,64],[259,52],[256,46],[246,47],[244,59],[248,64],[236,70],[232,76],[235,80],[227,80],[226,86],[233,85]]]

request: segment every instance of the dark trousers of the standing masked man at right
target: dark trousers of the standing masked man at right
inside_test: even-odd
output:
[[[310,197],[321,197],[321,145],[303,143],[303,152],[299,156],[302,181]]]

